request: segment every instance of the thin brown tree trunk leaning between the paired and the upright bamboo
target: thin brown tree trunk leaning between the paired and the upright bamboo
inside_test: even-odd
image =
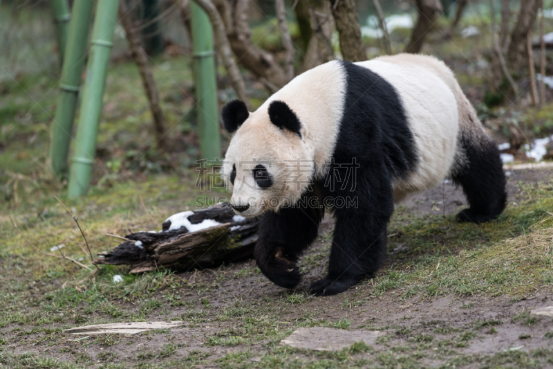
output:
[[[135,32],[133,27],[133,19],[129,14],[128,7],[126,6],[126,0],[120,0],[119,3],[119,17],[125,30],[126,40],[129,42],[131,53],[135,63],[138,65],[138,71],[142,78],[142,84],[146,90],[146,96],[150,105],[150,111],[153,118],[153,127],[156,131],[156,138],[158,140],[157,145],[164,150],[167,150],[167,121],[165,115],[160,106],[160,96],[158,88],[156,87],[156,81],[153,79],[150,66],[148,64],[148,55],[144,48],[138,44],[140,35]]]

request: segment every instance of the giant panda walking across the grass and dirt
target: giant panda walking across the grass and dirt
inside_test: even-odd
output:
[[[221,115],[235,132],[221,170],[229,203],[259,219],[254,257],[281,287],[301,280],[297,261],[325,208],[335,229],[328,275],[309,288],[319,296],[382,266],[394,204],[410,193],[452,179],[469,203],[460,222],[487,222],[505,208],[498,149],[434,57],[335,60],[298,75],[254,112],[233,100]]]

